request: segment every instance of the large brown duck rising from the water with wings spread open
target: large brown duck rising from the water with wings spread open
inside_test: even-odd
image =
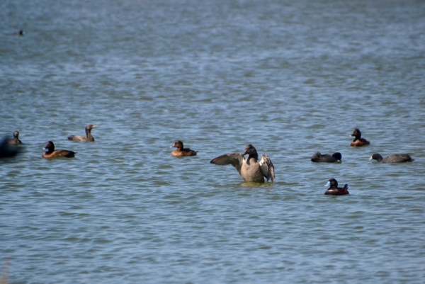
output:
[[[245,159],[245,155],[248,155]],[[246,182],[264,183],[264,178],[271,179],[274,181],[275,172],[274,166],[271,159],[265,155],[261,155],[261,160],[258,162],[259,154],[251,144],[245,147],[244,154],[241,153],[230,153],[224,154],[210,161],[211,164],[217,165],[229,165],[234,166],[237,169],[239,175],[244,178]]]

